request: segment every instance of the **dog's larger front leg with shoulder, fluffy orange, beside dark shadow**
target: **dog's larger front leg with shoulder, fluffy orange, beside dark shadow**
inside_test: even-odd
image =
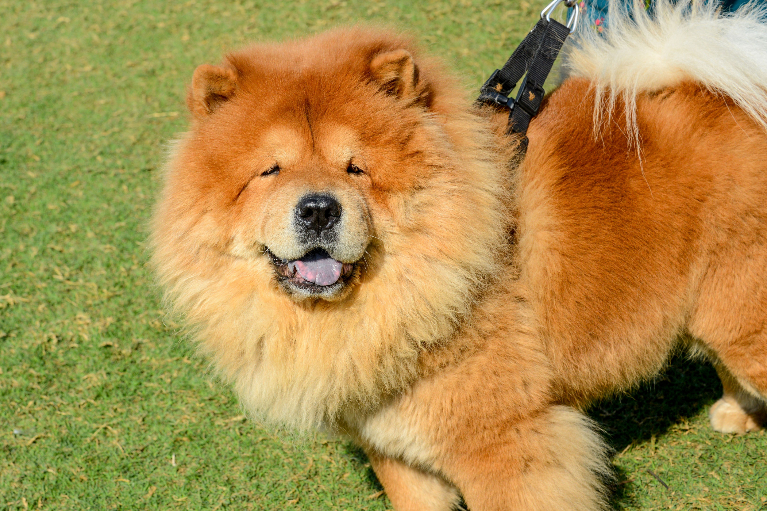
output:
[[[606,509],[607,448],[584,414],[555,404],[527,304],[499,295],[492,306],[499,313],[479,323],[481,337],[459,339],[433,359],[424,354],[429,377],[349,429],[360,444],[444,477],[472,511]],[[411,500],[401,509],[419,509],[405,507],[417,500],[400,481],[422,479],[407,470],[392,475],[391,467],[384,464],[380,478],[387,491],[397,488],[392,501],[405,488]]]

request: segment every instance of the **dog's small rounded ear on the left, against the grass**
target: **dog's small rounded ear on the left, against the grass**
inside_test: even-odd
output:
[[[192,87],[186,94],[186,106],[195,116],[210,115],[237,90],[237,70],[231,66],[202,64],[194,70]]]

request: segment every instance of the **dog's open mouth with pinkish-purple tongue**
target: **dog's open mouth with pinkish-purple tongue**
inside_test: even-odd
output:
[[[335,260],[321,248],[315,249],[301,259],[285,260],[266,249],[275,266],[278,277],[304,290],[322,290],[340,284],[354,272],[354,263]]]

